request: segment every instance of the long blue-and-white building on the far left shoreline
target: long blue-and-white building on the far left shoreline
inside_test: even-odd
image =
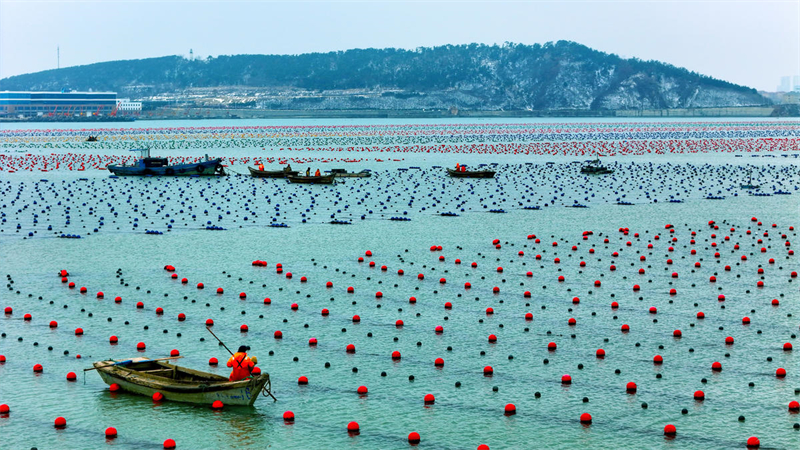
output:
[[[116,109],[116,92],[0,91],[0,117],[104,116]]]

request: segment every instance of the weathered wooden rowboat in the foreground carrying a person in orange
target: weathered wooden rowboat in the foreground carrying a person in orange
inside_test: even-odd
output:
[[[213,373],[147,358],[110,359],[92,365],[109,385],[116,383],[124,391],[148,397],[160,392],[164,399],[175,402],[210,405],[214,400],[220,400],[225,405],[252,406],[262,390],[270,392],[272,389],[267,373],[228,381],[226,377]]]

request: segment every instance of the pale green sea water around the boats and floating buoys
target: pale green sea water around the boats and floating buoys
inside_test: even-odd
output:
[[[120,126],[145,125],[163,123]],[[104,152],[114,150],[93,153]],[[212,156],[276,153],[244,148]],[[330,157],[322,151],[292,156]],[[737,187],[749,164],[757,174],[776,177],[762,179],[764,185],[796,189],[796,159],[717,153],[619,156],[607,162],[616,168],[616,178],[587,178],[578,173],[579,165],[571,164],[582,158],[570,156],[360,156],[366,159],[359,164],[314,165],[374,171],[369,179],[346,179],[334,186],[241,176],[112,179],[103,171],[0,173],[8,219],[0,232],[0,274],[7,278],[0,306],[13,308],[11,315],[0,317],[5,333],[0,354],[7,358],[0,365],[0,403],[11,407],[8,416],[0,416],[0,447],[159,448],[171,438],[178,448],[191,449],[394,449],[409,448],[412,431],[422,437],[418,448],[437,449],[480,444],[492,449],[741,448],[753,435],[765,447],[800,447],[800,430],[793,428],[798,416],[787,410],[790,401],[800,399],[800,295],[798,279],[790,276],[800,264],[785,246],[786,241],[788,248],[797,245],[800,194],[792,190],[793,195],[755,197]],[[490,180],[457,180],[434,167],[457,162],[498,163],[498,174]],[[699,175],[679,175],[691,167]],[[230,169],[246,171],[244,166]],[[633,206],[617,205],[615,190],[639,190],[633,177],[653,192],[651,198],[631,193],[625,198],[633,199]],[[668,202],[669,187],[687,188],[681,191],[683,203]],[[520,191],[525,189],[525,200],[533,199],[539,210],[522,209],[519,203],[526,203]],[[724,200],[705,199],[720,190]],[[658,202],[652,201],[655,197]],[[576,201],[589,207],[565,207]],[[458,216],[439,215],[444,208]],[[500,208],[505,212],[488,212]],[[331,215],[352,225],[331,225]],[[103,225],[95,232],[101,216]],[[244,221],[245,216],[250,220]],[[411,220],[389,220],[395,216]],[[711,220],[718,229],[709,226]],[[208,221],[226,230],[208,231]],[[674,233],[665,228],[668,224]],[[628,228],[628,234],[621,228]],[[163,234],[146,235],[145,229]],[[584,240],[585,231],[592,234]],[[82,237],[60,239],[60,233]],[[528,239],[532,234],[539,243]],[[740,248],[734,249],[735,244]],[[431,251],[431,246],[442,250]],[[372,256],[365,256],[367,250]],[[461,264],[455,264],[457,258]],[[254,260],[267,261],[267,267],[251,265]],[[282,274],[276,272],[277,263],[283,265]],[[612,264],[615,271],[609,269]],[[176,267],[177,280],[165,265]],[[726,265],[731,271],[724,270]],[[75,289],[61,282],[61,269],[69,272]],[[678,278],[672,278],[673,272]],[[711,275],[715,283],[709,282]],[[307,282],[300,281],[302,276]],[[180,283],[183,277],[187,284]],[[332,288],[325,287],[327,281]],[[757,287],[757,281],[764,287]],[[205,289],[196,288],[199,282]],[[465,289],[467,282],[471,289]],[[634,291],[634,284],[641,290]],[[78,291],[81,286],[87,287],[86,294]],[[355,293],[346,292],[349,286]],[[224,293],[218,295],[217,287]],[[99,291],[103,299],[96,298]],[[245,300],[239,299],[240,292],[246,293]],[[720,294],[725,301],[718,300]],[[113,301],[116,296],[121,303]],[[416,303],[409,302],[412,296]],[[270,304],[264,303],[267,297]],[[579,303],[573,303],[574,297]],[[779,306],[772,306],[772,299]],[[139,301],[144,308],[135,307]],[[611,308],[613,301],[618,309]],[[452,309],[445,309],[445,302]],[[292,303],[297,310],[290,309]],[[657,314],[649,312],[651,306]],[[163,315],[155,313],[157,307]],[[486,314],[489,307],[494,314]],[[329,316],[320,314],[323,308]],[[696,318],[698,311],[705,319]],[[527,312],[533,320],[525,320]],[[33,316],[31,321],[22,319],[25,313]],[[185,321],[177,320],[179,313],[186,314]],[[361,321],[354,323],[353,315]],[[742,324],[743,316],[752,319],[749,326]],[[567,324],[571,317],[576,326]],[[92,361],[166,357],[172,349],[180,350],[180,365],[227,375],[228,355],[206,331],[208,318],[228,347],[251,347],[249,353],[270,374],[277,402],[263,397],[252,408],[226,406],[222,411],[210,405],[155,404],[147,397],[110,393],[95,372],[84,376]],[[402,328],[395,326],[398,319]],[[58,321],[57,328],[48,326],[51,320]],[[242,324],[249,332],[239,331]],[[622,333],[622,324],[629,324],[630,332]],[[444,327],[442,334],[434,332],[437,325]],[[84,329],[82,336],[74,334],[78,327]],[[682,330],[681,338],[673,337],[676,329]],[[276,330],[283,339],[273,338]],[[488,342],[490,334],[497,336],[496,343]],[[111,335],[119,337],[117,345],[109,344]],[[726,346],[726,336],[734,337],[735,344]],[[318,339],[317,346],[308,345],[311,337]],[[145,352],[136,351],[140,341],[147,344]],[[549,342],[558,349],[548,351]],[[786,342],[795,351],[783,351]],[[348,344],[355,345],[355,354],[345,352]],[[595,357],[598,348],[606,351],[604,359]],[[402,359],[393,361],[393,351],[401,352]],[[652,363],[656,354],[664,357],[663,365]],[[222,364],[208,366],[211,357]],[[436,358],[444,359],[444,367],[434,367]],[[714,361],[722,363],[721,372],[711,371]],[[41,374],[32,372],[37,363],[44,366]],[[493,367],[493,376],[483,375],[485,366]],[[778,367],[787,370],[785,378],[775,377]],[[70,371],[78,374],[77,382],[65,379]],[[564,374],[571,375],[571,385],[561,384]],[[298,385],[300,376],[308,377],[307,386]],[[631,381],[638,385],[635,394],[625,392]],[[361,385],[368,387],[368,395],[356,393]],[[705,392],[705,401],[692,398],[696,390]],[[423,402],[429,393],[436,397],[433,405]],[[508,403],[516,406],[516,415],[503,414]],[[296,416],[291,424],[282,419],[289,410]],[[591,425],[579,422],[583,413],[593,416]],[[58,416],[67,419],[67,428],[53,428]],[[347,433],[350,421],[360,424],[360,434]],[[666,424],[677,427],[674,439],[664,437]],[[119,436],[106,440],[103,431],[110,426]]]

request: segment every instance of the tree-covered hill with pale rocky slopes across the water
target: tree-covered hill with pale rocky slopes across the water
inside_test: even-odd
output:
[[[166,56],[0,80],[0,90],[63,87],[139,99],[200,90],[269,109],[615,110],[769,103],[755,89],[568,41],[193,61]]]

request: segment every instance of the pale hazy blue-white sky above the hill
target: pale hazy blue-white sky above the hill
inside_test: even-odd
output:
[[[66,67],[561,39],[774,91],[800,75],[800,0],[0,0],[0,78],[55,68],[57,46]]]

